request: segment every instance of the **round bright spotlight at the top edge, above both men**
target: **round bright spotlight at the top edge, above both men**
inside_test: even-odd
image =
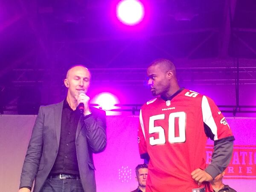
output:
[[[144,17],[143,4],[138,0],[122,0],[117,5],[116,16],[126,25],[136,25]]]

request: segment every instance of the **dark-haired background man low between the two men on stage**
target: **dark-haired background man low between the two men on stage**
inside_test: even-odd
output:
[[[145,192],[146,191],[146,181],[148,177],[148,165],[139,164],[135,168],[136,180],[138,181],[138,188],[132,192]]]

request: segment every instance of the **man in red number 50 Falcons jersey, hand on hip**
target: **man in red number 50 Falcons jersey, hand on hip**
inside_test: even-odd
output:
[[[171,61],[157,59],[147,75],[156,98],[140,110],[140,156],[149,159],[146,192],[209,192],[209,181],[232,156],[234,137],[226,119],[212,99],[180,88]],[[206,167],[208,137],[214,152]]]

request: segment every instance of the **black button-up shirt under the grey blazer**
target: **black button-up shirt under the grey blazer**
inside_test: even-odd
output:
[[[73,111],[67,99],[64,100],[61,116],[61,138],[58,155],[52,167],[50,175],[70,174],[79,175],[79,168],[76,156],[76,128],[81,116],[76,108]]]

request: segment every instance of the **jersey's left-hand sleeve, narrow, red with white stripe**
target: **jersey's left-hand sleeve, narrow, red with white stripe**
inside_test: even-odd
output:
[[[138,129],[138,143],[139,143],[140,157],[142,159],[149,160],[147,145],[146,145],[146,141],[145,141],[145,128],[144,128],[144,123],[143,123],[142,110],[140,110],[140,123],[139,123],[139,129]]]

